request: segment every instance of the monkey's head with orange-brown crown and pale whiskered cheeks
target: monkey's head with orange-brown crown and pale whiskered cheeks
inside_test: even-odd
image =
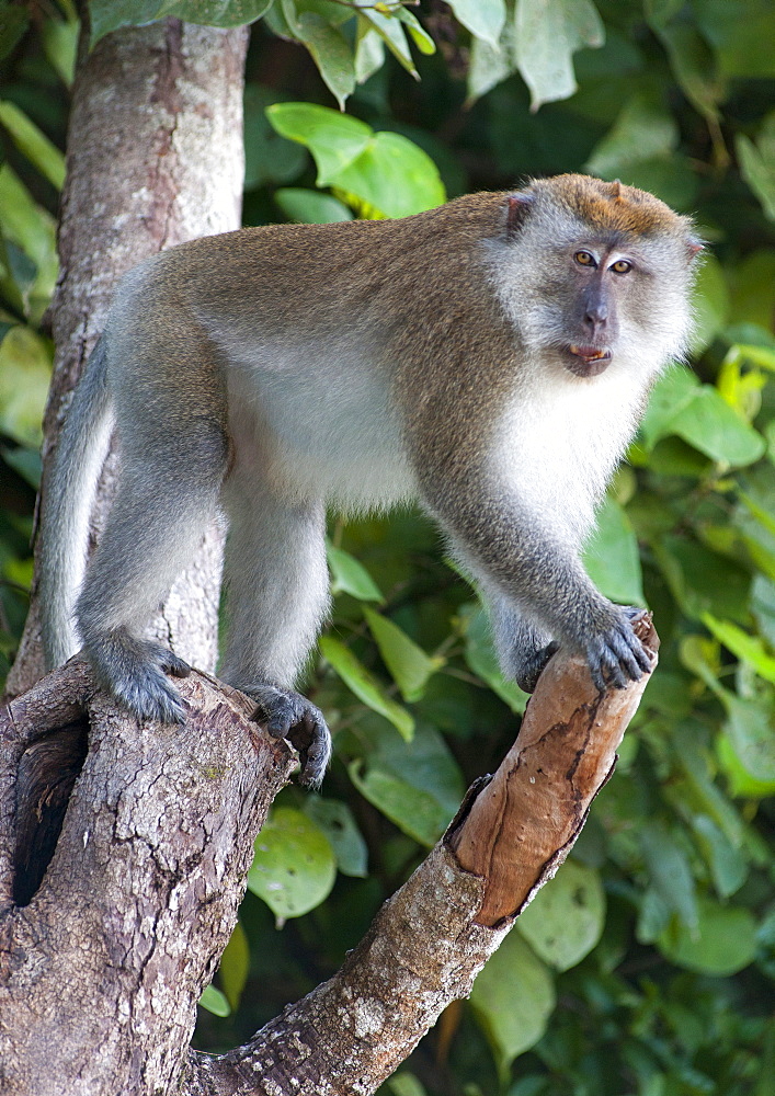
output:
[[[702,243],[659,198],[586,175],[509,195],[491,251],[495,285],[540,367],[591,378],[609,366],[648,381],[686,350]]]

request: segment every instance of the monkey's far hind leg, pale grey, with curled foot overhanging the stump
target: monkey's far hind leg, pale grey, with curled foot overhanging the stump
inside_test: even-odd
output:
[[[278,499],[236,469],[225,490],[227,646],[220,677],[258,704],[255,719],[299,751],[301,784],[317,787],[331,755],[319,708],[293,690],[328,612],[321,502]]]

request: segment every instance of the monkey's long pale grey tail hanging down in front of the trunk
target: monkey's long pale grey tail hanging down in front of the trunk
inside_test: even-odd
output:
[[[65,418],[41,506],[38,595],[46,669],[80,648],[75,607],[86,570],[89,518],[113,426],[107,354],[100,339]]]

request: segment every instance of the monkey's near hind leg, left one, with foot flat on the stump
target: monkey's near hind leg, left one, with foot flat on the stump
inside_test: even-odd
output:
[[[122,445],[118,490],[76,615],[89,661],[119,703],[140,720],[182,723],[185,708],[166,674],[185,677],[191,667],[141,630],[215,513],[227,442],[204,418],[174,438],[143,435],[137,429]]]

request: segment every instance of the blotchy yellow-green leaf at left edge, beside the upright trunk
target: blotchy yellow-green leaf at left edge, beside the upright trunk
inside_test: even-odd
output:
[[[0,431],[21,445],[37,448],[48,396],[52,357],[30,328],[11,328],[0,343]]]

